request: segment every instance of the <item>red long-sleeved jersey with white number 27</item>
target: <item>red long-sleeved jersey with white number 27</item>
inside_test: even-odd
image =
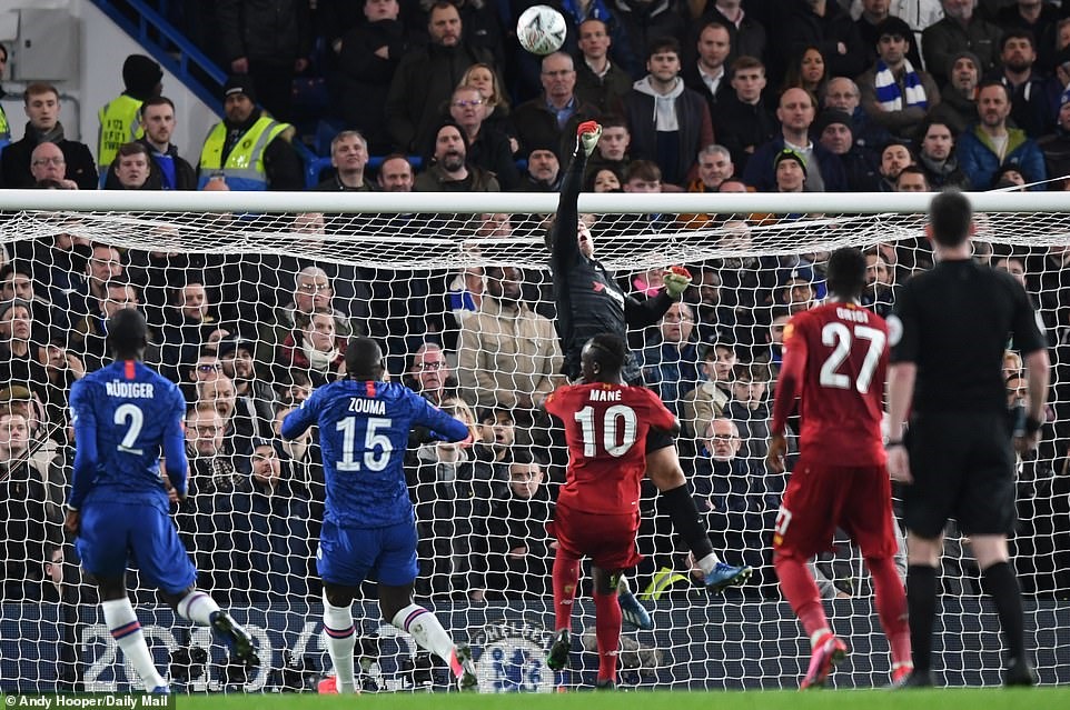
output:
[[[784,329],[771,431],[783,432],[799,399],[800,447],[835,466],[882,466],[888,324],[854,303],[830,302],[796,314]]]

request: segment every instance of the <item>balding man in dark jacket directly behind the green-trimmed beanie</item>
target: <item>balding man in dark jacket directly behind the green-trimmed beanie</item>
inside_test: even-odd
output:
[[[786,89],[780,97],[776,118],[781,134],[761,146],[747,161],[743,181],[759,191],[770,192],[775,187],[774,158],[784,148],[794,150],[806,166],[809,192],[842,192],[846,178],[840,161],[820,143],[810,140],[810,127],[815,118],[813,96],[802,89]]]

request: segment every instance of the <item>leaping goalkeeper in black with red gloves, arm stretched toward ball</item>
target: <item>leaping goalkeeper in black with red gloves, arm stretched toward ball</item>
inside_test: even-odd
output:
[[[569,380],[579,377],[581,354],[591,338],[612,333],[623,339],[628,328],[645,328],[656,323],[691,284],[687,270],[673,267],[665,273],[664,290],[640,302],[625,294],[605,267],[595,260],[594,238],[579,219],[577,202],[587,157],[598,142],[602,127],[594,121],[585,121],[576,132],[576,151],[562,181],[557,219],[548,237],[557,304],[555,328],[565,356],[563,372]],[[631,352],[625,358],[622,377],[630,384],[642,383],[642,371]],[[713,551],[687,490],[672,437],[652,430],[646,438],[646,470],[664,497],[673,527],[699,561],[705,574],[706,588],[716,593],[726,587],[745,582],[752,573],[750,567],[725,564]],[[631,593],[624,577],[621,578],[620,600],[628,623],[641,629],[652,628],[650,614]]]

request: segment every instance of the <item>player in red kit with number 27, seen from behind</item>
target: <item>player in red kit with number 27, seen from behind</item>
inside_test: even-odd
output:
[[[784,329],[767,466],[783,472],[784,427],[796,403],[800,457],[773,531],[773,567],[813,653],[801,688],[823,686],[846,644],[829,626],[808,560],[832,549],[839,527],[862,549],[876,612],[892,650],[892,679],[912,670],[906,594],[895,571],[892,492],[881,436],[888,326],[860,304],[865,258],[839,249],[829,259],[830,300]]]

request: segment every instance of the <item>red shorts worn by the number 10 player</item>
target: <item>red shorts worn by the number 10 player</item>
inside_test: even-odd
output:
[[[595,566],[615,572],[635,567],[643,556],[635,549],[640,513],[606,516],[573,510],[557,504],[546,531],[557,538],[561,552],[581,559],[590,557]]]

